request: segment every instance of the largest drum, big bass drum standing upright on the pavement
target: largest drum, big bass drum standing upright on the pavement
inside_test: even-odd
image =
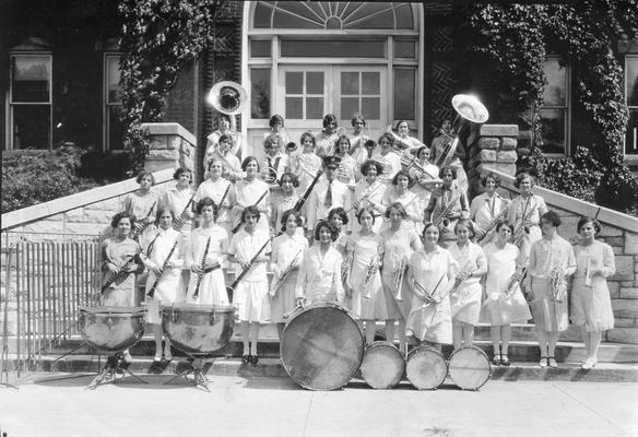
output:
[[[316,303],[288,318],[280,347],[291,379],[309,390],[334,390],[358,370],[364,336],[345,308]]]

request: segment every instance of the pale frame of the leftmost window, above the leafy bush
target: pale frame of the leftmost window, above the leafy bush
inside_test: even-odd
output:
[[[49,59],[49,101],[48,102],[13,102],[13,59],[28,58],[28,57],[46,57]],[[14,116],[13,108],[15,106],[49,106],[49,141],[46,149],[54,149],[54,55],[51,51],[45,50],[15,50],[9,52],[9,93],[7,93],[5,104],[5,144],[8,151],[15,150],[13,143],[14,133]]]

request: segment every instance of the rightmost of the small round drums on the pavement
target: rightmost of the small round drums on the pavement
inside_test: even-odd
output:
[[[450,356],[450,378],[463,390],[478,390],[492,374],[485,352],[475,346],[462,347]]]

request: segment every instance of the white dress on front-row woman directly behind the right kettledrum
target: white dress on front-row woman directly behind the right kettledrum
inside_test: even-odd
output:
[[[198,227],[192,232],[191,251],[187,257],[187,265],[202,263],[209,237],[211,237],[211,244],[206,255],[206,259],[209,260],[206,264],[213,262],[222,264],[225,261],[225,253],[228,247],[228,234],[223,227],[212,225],[209,228]],[[222,269],[215,269],[202,275],[199,285],[199,296],[194,297],[198,281],[200,281],[199,275],[191,273],[186,302],[197,305],[228,305],[226,282]]]

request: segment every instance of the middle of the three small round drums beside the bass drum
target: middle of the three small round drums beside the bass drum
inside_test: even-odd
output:
[[[418,390],[436,390],[448,375],[444,355],[429,346],[414,347],[407,354],[407,380]]]

